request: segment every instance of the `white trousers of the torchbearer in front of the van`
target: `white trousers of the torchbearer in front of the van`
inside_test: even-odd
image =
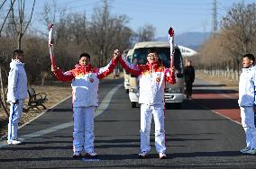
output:
[[[155,122],[155,147],[158,153],[165,153],[164,111],[162,105],[141,105],[141,150],[151,150],[151,119]]]

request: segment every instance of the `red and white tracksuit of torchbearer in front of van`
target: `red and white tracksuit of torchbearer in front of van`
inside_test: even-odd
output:
[[[149,152],[151,119],[155,121],[155,146],[158,153],[165,153],[164,88],[165,83],[175,84],[169,68],[161,64],[133,65],[119,58],[121,65],[130,74],[139,78],[139,103],[141,103],[141,149]]]

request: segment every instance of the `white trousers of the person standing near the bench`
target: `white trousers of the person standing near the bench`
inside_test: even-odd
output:
[[[18,124],[23,116],[23,100],[18,103],[11,103],[10,117],[8,123],[8,141],[17,139],[18,137]]]

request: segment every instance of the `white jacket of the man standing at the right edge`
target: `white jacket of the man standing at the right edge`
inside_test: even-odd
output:
[[[242,68],[239,80],[240,107],[253,106],[255,102],[256,67]]]

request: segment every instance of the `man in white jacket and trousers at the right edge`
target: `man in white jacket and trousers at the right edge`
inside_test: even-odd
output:
[[[242,74],[239,80],[239,100],[242,128],[245,131],[246,147],[240,150],[245,154],[256,154],[256,128],[253,105],[255,104],[256,67],[252,54],[242,58]]]

